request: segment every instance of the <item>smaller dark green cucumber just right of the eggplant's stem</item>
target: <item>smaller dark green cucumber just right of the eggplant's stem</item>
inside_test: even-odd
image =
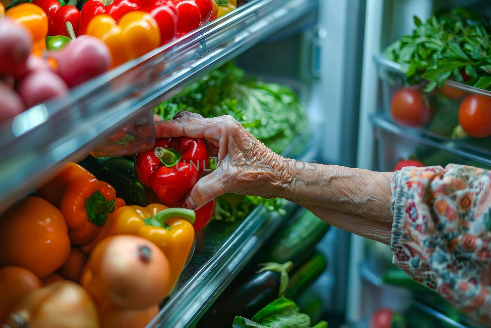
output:
[[[290,275],[286,298],[295,299],[301,291],[317,280],[326,268],[326,257],[321,252],[316,251],[293,275]]]

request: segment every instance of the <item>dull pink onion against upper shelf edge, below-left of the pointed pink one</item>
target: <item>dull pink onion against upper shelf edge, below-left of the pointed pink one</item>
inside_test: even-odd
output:
[[[68,93],[65,82],[49,70],[38,70],[27,74],[17,89],[28,108]]]

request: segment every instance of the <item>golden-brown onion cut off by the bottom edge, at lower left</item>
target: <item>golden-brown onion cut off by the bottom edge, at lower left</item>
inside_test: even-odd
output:
[[[10,313],[12,328],[98,328],[99,318],[87,292],[72,281],[58,281],[30,293]]]

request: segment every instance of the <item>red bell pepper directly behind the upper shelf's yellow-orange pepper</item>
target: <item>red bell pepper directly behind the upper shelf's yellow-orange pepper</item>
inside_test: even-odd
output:
[[[85,34],[87,25],[96,15],[108,14],[117,22],[124,14],[137,10],[140,4],[133,0],[115,0],[108,6],[98,0],[88,0],[82,7],[80,16],[80,34]]]

